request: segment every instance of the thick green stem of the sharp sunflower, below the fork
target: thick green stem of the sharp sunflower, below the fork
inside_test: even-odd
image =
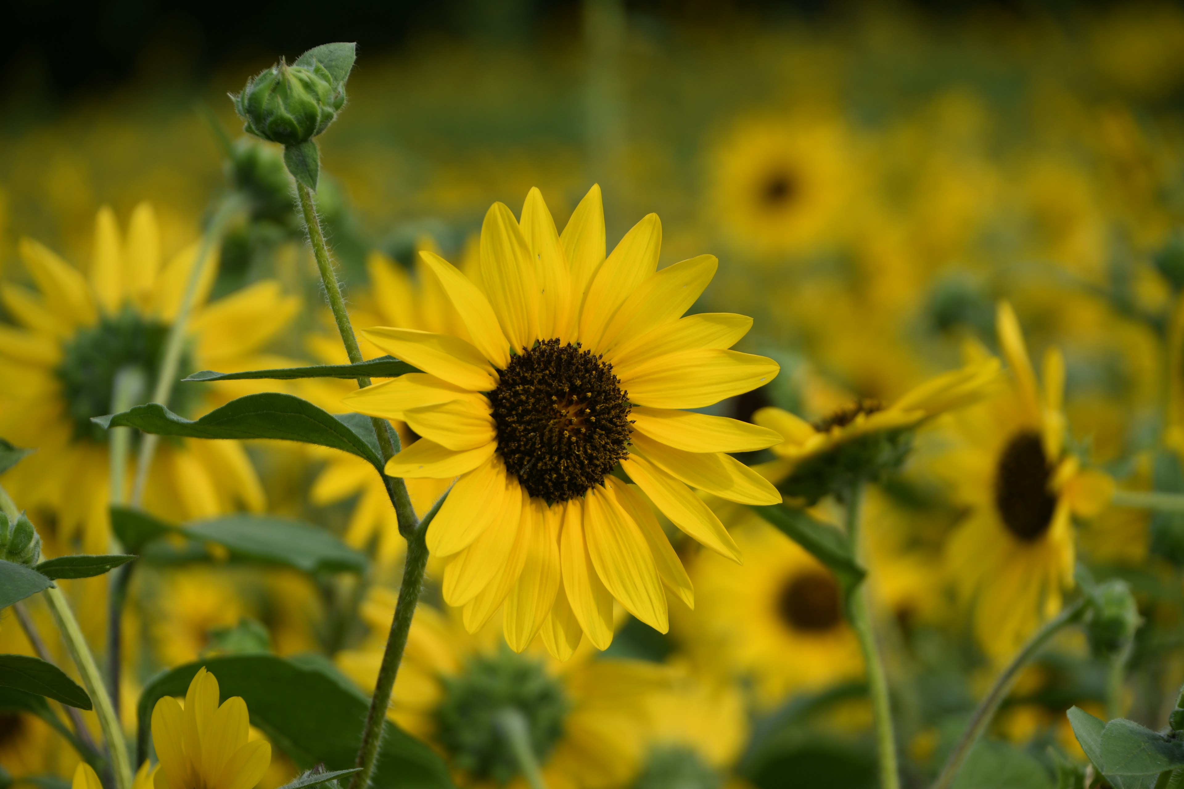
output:
[[[379,746],[382,744],[382,723],[386,720],[387,707],[391,706],[391,692],[399,675],[399,664],[403,651],[407,647],[407,633],[411,632],[411,619],[416,614],[416,604],[424,588],[424,570],[427,568],[427,526],[439,512],[448,493],[442,496],[424,516],[419,528],[407,538],[407,558],[403,568],[403,583],[399,586],[399,600],[394,604],[394,619],[391,620],[391,632],[386,639],[386,651],[378,670],[378,681],[374,684],[374,696],[371,697],[369,711],[366,713],[366,726],[362,729],[362,742],[358,749],[358,761],[354,767],[362,769],[355,772],[349,782],[349,789],[369,787],[378,759]]]

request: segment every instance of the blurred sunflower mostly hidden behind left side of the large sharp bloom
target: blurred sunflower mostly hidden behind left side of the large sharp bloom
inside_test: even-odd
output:
[[[435,251],[429,239],[420,240],[417,248]],[[480,276],[476,259],[472,250],[465,254],[462,265],[462,270],[470,279]],[[417,260],[414,278],[408,276],[401,265],[380,252],[371,252],[366,260],[366,270],[371,286],[355,292],[353,297],[354,304],[349,313],[354,326],[367,329],[391,325],[400,329],[439,331],[469,339],[464,322],[448,299],[439,279],[422,259]],[[327,323],[333,325],[333,316],[324,317]],[[336,328],[333,326],[333,330]],[[374,358],[386,353],[365,336],[360,337],[359,345],[365,358]],[[314,335],[309,337],[308,347],[326,364],[346,364],[349,361],[335,334]],[[333,379],[309,379],[305,383],[308,399],[330,409],[339,407],[341,399],[354,388],[353,381]],[[404,446],[419,438],[401,421],[395,421],[394,427]],[[403,556],[406,542],[399,535],[399,523],[382,479],[374,473],[368,463],[355,455],[327,450],[323,457],[327,460],[326,466],[313,483],[309,498],[314,504],[323,506],[353,496],[359,497],[346,528],[346,542],[354,548],[366,548],[377,542],[379,562],[386,565],[395,562]],[[411,496],[416,513],[422,517],[431,509],[450,483],[450,479],[408,479],[407,493]]]

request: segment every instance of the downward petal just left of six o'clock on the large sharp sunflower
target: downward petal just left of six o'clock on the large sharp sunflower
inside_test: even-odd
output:
[[[551,613],[559,591],[559,528],[561,506],[547,506],[532,499],[534,524],[526,564],[517,583],[506,597],[502,609],[502,630],[514,652],[522,652],[534,640],[543,620]]]

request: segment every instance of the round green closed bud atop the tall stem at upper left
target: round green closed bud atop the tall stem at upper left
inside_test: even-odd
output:
[[[345,85],[320,63],[289,66],[283,59],[234,96],[244,130],[283,145],[298,145],[324,131],[345,103]]]

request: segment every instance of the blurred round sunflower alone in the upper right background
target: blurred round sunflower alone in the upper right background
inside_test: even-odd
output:
[[[856,172],[850,134],[836,117],[748,119],[714,153],[710,216],[740,250],[807,252],[842,226]]]

